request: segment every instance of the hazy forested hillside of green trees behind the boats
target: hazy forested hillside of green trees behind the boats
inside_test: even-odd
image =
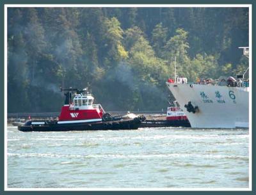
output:
[[[8,113],[60,111],[60,86],[107,111],[168,106],[165,81],[241,74],[248,8],[8,8]]]

